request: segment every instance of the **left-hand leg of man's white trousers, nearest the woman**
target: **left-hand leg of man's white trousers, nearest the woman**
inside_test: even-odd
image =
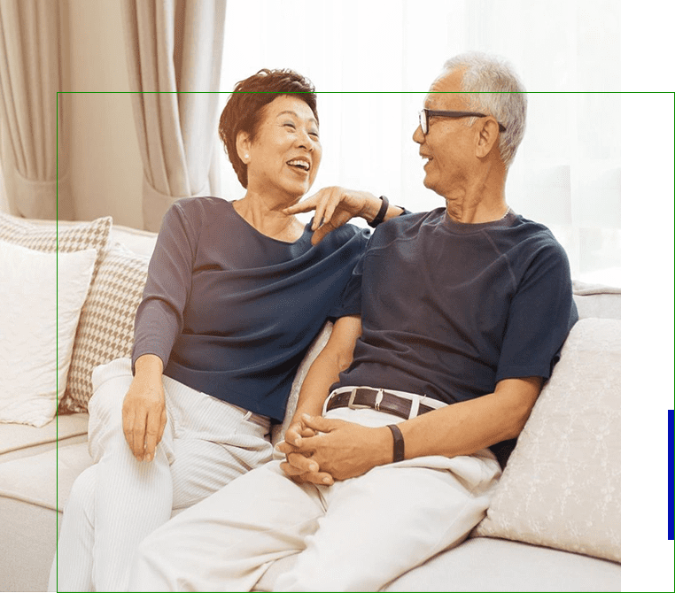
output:
[[[249,472],[145,538],[132,591],[247,591],[276,559],[305,547],[325,508],[279,461]]]

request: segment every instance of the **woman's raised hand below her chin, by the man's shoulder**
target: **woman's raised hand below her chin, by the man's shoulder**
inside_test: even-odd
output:
[[[316,245],[330,231],[341,227],[356,216],[375,219],[382,201],[367,191],[331,187],[317,191],[299,204],[284,209],[285,214],[314,210],[312,244]]]

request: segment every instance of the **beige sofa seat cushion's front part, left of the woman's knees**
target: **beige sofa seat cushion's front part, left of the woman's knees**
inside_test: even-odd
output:
[[[0,504],[13,499],[63,512],[75,478],[92,463],[87,443],[76,443],[0,464]]]

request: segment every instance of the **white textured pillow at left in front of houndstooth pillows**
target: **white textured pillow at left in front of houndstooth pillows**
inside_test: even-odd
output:
[[[0,241],[1,422],[42,427],[54,417],[96,258],[95,249],[49,253]]]

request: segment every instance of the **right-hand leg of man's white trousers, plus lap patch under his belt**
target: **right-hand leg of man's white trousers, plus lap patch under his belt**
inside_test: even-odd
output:
[[[342,408],[327,416],[367,426],[392,424],[392,416],[374,410]],[[500,474],[492,452],[484,450],[409,459],[336,482],[324,490],[327,512],[319,528],[275,590],[381,589],[461,543],[485,517]]]

